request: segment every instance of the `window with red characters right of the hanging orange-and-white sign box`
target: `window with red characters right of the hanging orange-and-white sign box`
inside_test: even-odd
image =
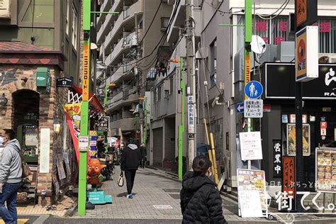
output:
[[[336,53],[336,19],[320,18],[313,25],[319,26],[319,52]]]

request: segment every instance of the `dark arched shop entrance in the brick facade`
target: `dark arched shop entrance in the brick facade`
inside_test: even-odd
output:
[[[14,130],[23,151],[23,159],[38,163],[38,124],[40,95],[29,89],[13,93]]]

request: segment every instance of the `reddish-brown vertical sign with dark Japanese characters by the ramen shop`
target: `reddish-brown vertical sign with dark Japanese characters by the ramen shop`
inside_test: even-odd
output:
[[[282,172],[282,191],[294,196],[295,191],[295,157],[284,156],[284,170]]]

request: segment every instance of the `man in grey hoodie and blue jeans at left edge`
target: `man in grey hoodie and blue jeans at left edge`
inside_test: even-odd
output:
[[[13,130],[1,131],[0,145],[4,145],[0,162],[0,216],[6,224],[17,223],[16,195],[22,187],[22,161]]]

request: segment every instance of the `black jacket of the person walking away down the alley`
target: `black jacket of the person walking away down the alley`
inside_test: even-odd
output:
[[[138,169],[141,153],[137,145],[130,144],[121,153],[121,170]]]

